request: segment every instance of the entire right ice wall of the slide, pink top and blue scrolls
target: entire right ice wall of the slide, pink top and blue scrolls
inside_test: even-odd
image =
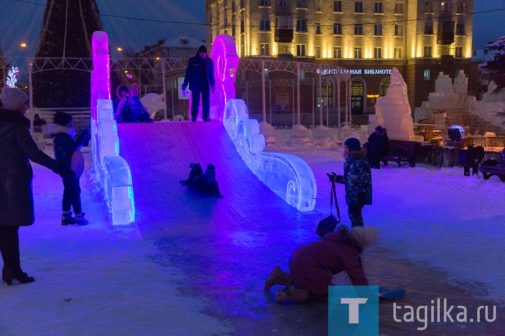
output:
[[[216,92],[211,101],[211,116],[223,124],[237,151],[252,173],[288,204],[301,211],[314,210],[316,178],[304,160],[290,154],[264,153],[265,137],[256,119],[249,119],[247,106],[235,98],[238,55],[235,40],[219,35],[212,44]]]

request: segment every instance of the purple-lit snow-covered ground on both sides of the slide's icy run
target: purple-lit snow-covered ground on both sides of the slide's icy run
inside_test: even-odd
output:
[[[326,173],[342,173],[342,149],[268,148],[309,163],[321,213],[329,207]],[[144,240],[135,223],[112,226],[89,153],[85,158],[85,227],[59,225],[61,179],[33,164],[36,221],[20,229],[20,248],[22,267],[36,281],[0,285],[0,334],[236,334],[204,313],[205,298],[184,296],[172,286],[188,275],[175,262],[157,261],[155,243]],[[363,211],[365,225],[380,230],[380,246],[443,271],[452,286],[477,284],[487,299],[505,302],[505,183],[465,177],[457,167],[391,164],[373,170],[373,205]],[[337,197],[342,222],[349,225],[343,185]]]

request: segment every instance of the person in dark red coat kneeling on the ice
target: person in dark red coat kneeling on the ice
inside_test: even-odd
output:
[[[355,227],[349,231],[339,226],[322,240],[296,248],[289,257],[290,273],[275,266],[265,283],[265,291],[283,285],[286,287],[275,293],[275,302],[306,302],[327,296],[328,286],[333,286],[333,275],[342,271],[349,275],[353,286],[368,286],[359,255],[377,238],[374,227]]]

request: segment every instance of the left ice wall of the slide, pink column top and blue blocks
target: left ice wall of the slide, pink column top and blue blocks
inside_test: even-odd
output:
[[[113,118],[109,40],[95,31],[91,40],[91,152],[93,170],[105,190],[114,225],[135,220],[133,185],[128,163],[119,156],[119,138]]]

